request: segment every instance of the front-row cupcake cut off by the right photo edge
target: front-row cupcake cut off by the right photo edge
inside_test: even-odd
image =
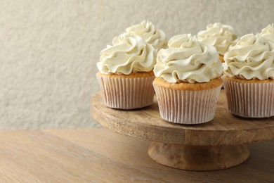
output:
[[[274,42],[247,34],[224,56],[223,85],[230,113],[245,118],[274,115]]]

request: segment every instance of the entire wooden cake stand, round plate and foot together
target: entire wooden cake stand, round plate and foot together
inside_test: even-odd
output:
[[[240,118],[228,113],[222,90],[214,120],[177,125],[162,120],[157,100],[152,106],[124,111],[108,108],[102,92],[91,98],[91,116],[103,127],[152,141],[149,156],[157,163],[183,170],[220,170],[249,158],[246,144],[274,139],[274,117]]]

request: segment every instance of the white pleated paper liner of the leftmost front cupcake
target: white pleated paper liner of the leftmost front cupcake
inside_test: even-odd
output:
[[[96,75],[103,91],[105,105],[110,108],[133,109],[153,103],[154,76],[116,78]]]

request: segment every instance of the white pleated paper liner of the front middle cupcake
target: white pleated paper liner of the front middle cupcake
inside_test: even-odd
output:
[[[214,118],[221,85],[214,89],[185,91],[153,84],[159,113],[164,120],[180,124],[200,124]]]

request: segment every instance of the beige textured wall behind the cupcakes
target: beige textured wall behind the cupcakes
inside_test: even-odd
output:
[[[0,128],[94,127],[100,50],[126,27],[151,20],[171,37],[233,25],[259,32],[274,1],[0,0]]]

